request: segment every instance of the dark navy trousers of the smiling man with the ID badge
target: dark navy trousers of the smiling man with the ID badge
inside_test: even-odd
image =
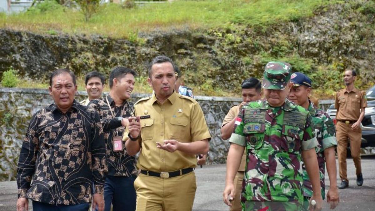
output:
[[[104,184],[104,211],[135,211],[136,193],[135,178],[126,176],[109,176]]]

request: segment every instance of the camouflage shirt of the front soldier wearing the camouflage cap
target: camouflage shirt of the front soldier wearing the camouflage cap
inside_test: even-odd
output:
[[[301,149],[317,145],[310,114],[288,99],[281,107],[270,107],[264,99],[244,105],[239,118],[241,122],[229,142],[246,141],[243,209],[254,210],[250,206],[255,202],[290,202],[274,204],[292,204],[300,209],[303,203]]]

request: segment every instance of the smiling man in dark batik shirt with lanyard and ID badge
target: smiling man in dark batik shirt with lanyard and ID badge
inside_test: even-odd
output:
[[[122,142],[127,118],[132,114],[133,103],[128,102],[134,88],[135,71],[125,67],[114,68],[109,77],[110,93],[103,99],[90,101],[89,106],[98,110],[107,149],[108,175],[104,185],[105,211],[134,211],[137,176],[135,157],[127,154]]]

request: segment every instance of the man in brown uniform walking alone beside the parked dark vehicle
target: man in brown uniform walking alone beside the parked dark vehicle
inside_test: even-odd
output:
[[[339,172],[341,184],[338,188],[349,186],[347,177],[347,146],[350,139],[350,152],[356,166],[357,185],[362,186],[363,176],[361,169],[361,122],[367,107],[366,93],[354,88],[357,73],[347,70],[344,73],[345,89],[336,93],[336,139],[338,142],[337,155],[339,160]]]

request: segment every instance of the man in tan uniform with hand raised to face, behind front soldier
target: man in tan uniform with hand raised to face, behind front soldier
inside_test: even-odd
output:
[[[231,134],[233,133],[234,129],[234,122],[236,121],[236,117],[239,115],[239,112],[243,105],[251,101],[257,101],[261,97],[262,86],[261,82],[257,78],[248,78],[244,80],[241,84],[241,94],[243,102],[239,105],[235,105],[231,107],[228,114],[225,116],[223,120],[223,124],[221,126],[221,137],[222,139],[229,139]],[[246,153],[242,155],[241,164],[237,171],[236,178],[234,178],[236,186],[235,186],[235,194],[233,205],[229,208],[230,211],[241,211],[241,191],[242,191],[242,180],[243,174],[245,172],[245,164],[246,164]]]

